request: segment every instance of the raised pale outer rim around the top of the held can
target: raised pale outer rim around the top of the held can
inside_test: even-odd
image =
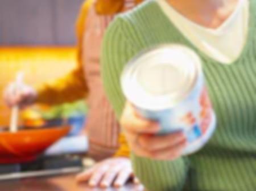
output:
[[[139,66],[142,65],[142,63],[139,63],[137,61],[142,60],[143,58],[147,57],[148,55],[150,55],[152,53],[155,53],[156,51],[160,52],[162,50],[168,50],[168,49],[183,50],[184,55],[185,55],[185,53],[188,53],[188,56],[194,60],[193,64],[192,64],[194,73],[192,76],[191,83],[185,84],[186,86],[183,88],[183,90],[180,90],[180,92],[176,92],[177,93],[176,97],[174,96],[175,94],[173,95],[175,97],[175,101],[171,100],[170,94],[154,96],[154,99],[150,99],[150,95],[146,95],[146,97],[144,95],[144,97],[142,97],[142,99],[141,99],[143,101],[139,101],[139,99],[135,99],[134,97],[137,97],[137,96],[135,96],[135,94],[138,94],[138,87],[137,88],[128,87],[128,84],[129,84],[129,79],[131,78],[131,74],[133,74],[133,72],[134,72],[134,67],[136,66],[138,68]],[[190,63],[190,65],[191,65],[191,63]],[[181,101],[183,101],[184,99],[186,99],[186,97],[188,97],[189,93],[192,91],[193,87],[196,86],[196,82],[197,82],[200,74],[201,74],[201,60],[200,60],[199,56],[197,56],[197,54],[192,49],[188,48],[187,46],[181,45],[181,44],[162,44],[162,45],[152,46],[150,48],[142,50],[136,56],[131,58],[131,60],[129,62],[127,62],[126,66],[124,67],[122,74],[121,74],[121,87],[122,87],[123,94],[127,97],[127,99],[132,104],[134,104],[140,108],[150,109],[152,111],[155,111],[155,110],[161,110],[161,109],[167,109],[170,107],[174,107],[176,104],[178,104]],[[135,92],[131,92],[133,90],[135,90]],[[145,104],[147,102],[146,99],[148,101],[147,104]],[[156,105],[150,104],[150,103],[154,102],[154,100],[156,100],[156,99],[158,99],[159,103],[157,103],[158,101],[156,101],[156,103],[157,103]],[[161,100],[163,100],[163,101],[161,101]]]

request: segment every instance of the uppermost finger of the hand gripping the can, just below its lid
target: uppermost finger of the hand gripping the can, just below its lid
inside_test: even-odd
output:
[[[139,116],[129,103],[126,104],[123,110],[121,125],[128,131],[140,133],[157,133],[160,130],[160,126],[157,122]]]

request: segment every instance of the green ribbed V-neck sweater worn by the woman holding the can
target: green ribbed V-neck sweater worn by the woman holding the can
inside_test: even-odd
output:
[[[203,61],[217,129],[199,152],[174,161],[156,161],[132,154],[135,174],[151,191],[255,191],[256,1],[250,1],[246,45],[231,65],[214,61],[200,52],[155,1],[146,1],[118,16],[106,32],[102,78],[115,113],[119,118],[125,103],[119,82],[123,66],[145,48],[179,43],[195,50]]]

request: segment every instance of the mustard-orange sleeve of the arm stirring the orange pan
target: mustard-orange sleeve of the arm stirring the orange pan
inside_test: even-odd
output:
[[[44,104],[61,104],[82,99],[88,94],[88,87],[84,78],[82,66],[82,36],[85,32],[85,20],[88,10],[93,5],[94,0],[87,0],[81,7],[76,20],[77,35],[77,67],[53,82],[48,82],[37,87],[38,102]]]

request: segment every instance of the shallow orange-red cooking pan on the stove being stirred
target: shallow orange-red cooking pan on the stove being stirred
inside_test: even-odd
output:
[[[0,132],[0,163],[24,163],[35,160],[70,130],[69,126],[34,128],[16,133]]]

